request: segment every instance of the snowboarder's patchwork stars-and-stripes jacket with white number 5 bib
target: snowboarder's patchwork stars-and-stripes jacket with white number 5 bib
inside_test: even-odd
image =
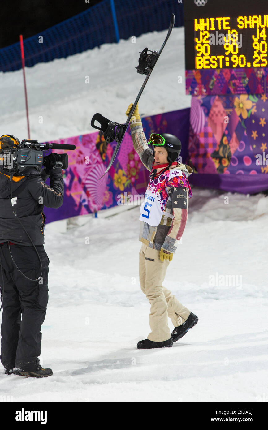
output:
[[[151,171],[154,163],[153,151],[148,147],[145,134],[142,129],[142,123],[137,122],[135,125],[131,124],[131,135],[134,148],[139,154],[143,165]],[[177,163],[169,167],[163,175],[157,179],[151,179],[148,184],[145,199],[147,203],[143,203],[141,207],[141,225],[139,240],[150,248],[165,249],[168,252],[175,252],[182,233],[185,229],[186,221],[188,218],[188,199],[192,197],[191,187],[188,182],[188,176],[191,175],[193,170],[190,166]],[[150,196],[148,196],[150,194]],[[157,221],[148,222],[142,219],[149,218],[150,206],[148,199],[154,200],[157,198],[157,205],[161,208],[158,216],[161,216],[158,225]],[[150,216],[151,218],[151,216]],[[157,220],[157,216],[155,217]]]

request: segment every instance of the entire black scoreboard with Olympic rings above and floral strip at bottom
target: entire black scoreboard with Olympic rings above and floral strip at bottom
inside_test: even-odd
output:
[[[190,77],[198,76],[205,93],[209,94],[215,71],[217,77],[223,69],[229,69],[229,78],[231,74],[233,77],[238,74],[239,80],[243,74],[243,83],[246,82],[246,85],[244,90],[240,85],[242,92],[265,92],[268,72],[268,0],[186,0],[184,17],[188,94],[193,93],[193,85],[189,88]],[[196,71],[199,71],[198,75]],[[222,76],[228,78],[226,73]],[[253,82],[254,78],[259,79],[260,76],[262,89],[256,79]],[[251,87],[247,85],[249,81]],[[225,85],[224,93],[232,92],[233,86],[229,82],[227,90]]]

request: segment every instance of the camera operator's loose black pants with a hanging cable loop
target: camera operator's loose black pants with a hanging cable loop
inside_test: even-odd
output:
[[[3,300],[0,359],[8,369],[36,369],[37,357],[41,353],[40,330],[48,302],[49,258],[43,245],[36,248],[42,261],[43,273],[40,280],[30,281],[16,269],[8,243],[0,245],[3,267],[3,279],[0,267],[1,301]],[[40,261],[33,246],[10,245],[10,250],[25,276],[31,279],[41,276]]]

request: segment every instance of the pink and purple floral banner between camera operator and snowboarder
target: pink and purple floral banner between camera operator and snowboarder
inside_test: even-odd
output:
[[[149,138],[151,132],[175,134],[182,141],[187,154],[189,115],[190,108],[142,118],[145,135]],[[74,144],[76,150],[55,151],[58,154],[68,154],[68,169],[62,171],[65,183],[64,202],[59,209],[45,208],[46,222],[117,206],[118,200],[122,202],[118,197],[120,194],[126,198],[129,194],[135,196],[145,193],[149,172],[133,148],[130,132],[124,136],[114,164],[106,175],[104,172],[111,160],[116,142],[106,144],[102,132],[53,142]],[[49,184],[49,179],[47,183]]]

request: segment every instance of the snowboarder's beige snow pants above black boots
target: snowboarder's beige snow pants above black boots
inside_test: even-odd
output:
[[[161,261],[160,251],[142,244],[139,252],[139,280],[142,292],[146,294],[150,304],[149,324],[150,341],[163,342],[170,339],[168,316],[174,327],[180,326],[191,311],[183,306],[176,297],[162,286],[169,260]]]

